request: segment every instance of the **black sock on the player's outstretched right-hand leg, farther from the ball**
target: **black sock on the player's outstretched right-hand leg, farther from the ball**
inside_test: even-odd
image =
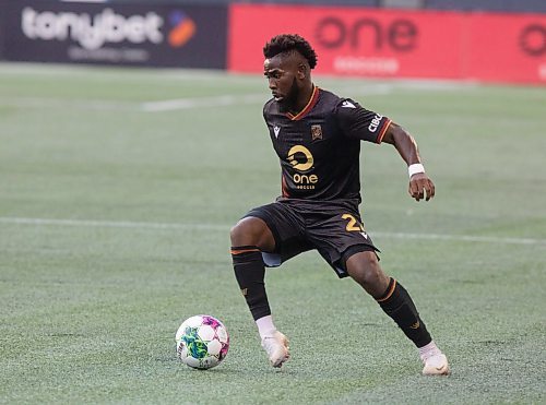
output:
[[[377,301],[415,346],[423,347],[432,342],[410,294],[394,278],[391,278],[385,294]]]

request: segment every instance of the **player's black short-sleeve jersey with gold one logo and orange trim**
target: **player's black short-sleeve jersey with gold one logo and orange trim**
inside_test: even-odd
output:
[[[298,115],[272,98],[263,117],[281,160],[283,198],[360,202],[360,141],[381,143],[389,118],[317,86]]]

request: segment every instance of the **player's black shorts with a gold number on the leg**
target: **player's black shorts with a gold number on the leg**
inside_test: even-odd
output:
[[[275,238],[275,250],[262,252],[268,267],[316,249],[340,277],[345,262],[361,251],[379,252],[364,229],[358,204],[351,200],[307,201],[281,199],[251,210],[245,217],[263,219]]]

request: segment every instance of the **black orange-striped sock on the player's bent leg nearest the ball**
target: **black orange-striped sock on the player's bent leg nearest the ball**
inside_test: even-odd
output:
[[[235,277],[256,320],[270,315],[271,309],[265,294],[265,266],[262,252],[256,246],[232,248]]]

